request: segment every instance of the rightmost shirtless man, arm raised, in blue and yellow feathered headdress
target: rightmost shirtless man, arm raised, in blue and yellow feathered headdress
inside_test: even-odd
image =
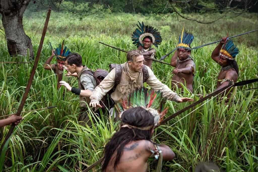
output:
[[[227,86],[231,82],[237,81],[238,65],[235,61],[235,57],[238,52],[238,48],[234,45],[233,41],[227,40],[227,37],[223,37],[222,41],[213,50],[211,58],[221,66],[216,90]],[[226,101],[229,101],[234,88],[231,90],[226,90]]]

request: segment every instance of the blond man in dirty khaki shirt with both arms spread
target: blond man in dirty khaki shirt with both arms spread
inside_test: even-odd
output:
[[[115,91],[111,93],[111,98],[118,103],[120,98],[132,93],[136,88],[143,86],[143,62],[144,57],[140,50],[131,50],[127,53],[127,62],[121,65],[121,80],[117,85]],[[186,102],[193,101],[191,98],[179,97],[175,92],[168,88],[167,85],[160,82],[151,69],[145,66],[148,71],[147,84],[153,88],[155,91],[160,90],[163,92],[163,96],[168,100],[176,102]],[[94,89],[92,95],[90,96],[91,102],[90,106],[102,107],[99,101],[102,99],[106,93],[111,90],[115,85],[115,75],[116,69],[110,71],[110,73],[105,77],[105,79]]]

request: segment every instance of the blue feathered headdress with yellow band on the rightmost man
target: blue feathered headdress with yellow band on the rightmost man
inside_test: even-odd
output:
[[[220,56],[229,60],[233,60],[238,53],[238,48],[234,45],[232,40],[225,41],[222,49],[220,50]]]

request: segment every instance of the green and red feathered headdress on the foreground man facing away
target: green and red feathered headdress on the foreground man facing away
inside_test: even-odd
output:
[[[155,92],[153,89],[148,90],[147,88],[140,88],[136,89],[132,94],[122,98],[120,103],[116,104],[116,109],[119,112],[119,118],[123,112],[126,110],[133,108],[133,107],[142,107],[149,111],[154,116],[154,126],[147,126],[147,127],[135,127],[130,126],[128,124],[124,124],[126,127],[131,128],[138,128],[141,130],[149,130],[155,127],[165,116],[167,109],[164,108],[166,103],[166,98],[162,97],[162,92],[157,91]],[[122,121],[123,122],[123,121]]]

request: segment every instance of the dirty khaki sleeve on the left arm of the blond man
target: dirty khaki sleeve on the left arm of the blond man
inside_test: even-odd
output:
[[[116,69],[112,69],[110,73],[104,78],[103,81],[93,90],[90,97],[91,102],[99,102],[106,93],[111,90],[115,85]]]

